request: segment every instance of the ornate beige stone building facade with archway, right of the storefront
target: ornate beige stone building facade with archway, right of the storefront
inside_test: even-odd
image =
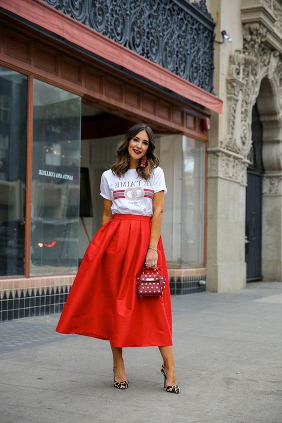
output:
[[[232,3],[232,4],[230,4]],[[207,2],[216,40],[207,187],[207,289],[282,280],[282,2]]]

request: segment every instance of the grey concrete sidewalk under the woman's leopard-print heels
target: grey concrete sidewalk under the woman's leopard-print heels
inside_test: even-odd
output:
[[[282,423],[282,283],[172,305],[179,395],[158,348],[124,348],[120,391],[107,341],[54,332],[58,314],[0,323],[0,422]]]

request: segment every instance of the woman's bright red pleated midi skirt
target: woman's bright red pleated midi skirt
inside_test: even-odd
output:
[[[136,293],[151,218],[114,214],[90,241],[56,331],[108,339],[113,346],[172,345],[169,280],[161,237],[157,266],[167,278],[163,297]]]

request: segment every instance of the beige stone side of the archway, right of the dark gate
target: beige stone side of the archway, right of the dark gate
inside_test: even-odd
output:
[[[282,280],[282,113],[275,74],[261,80],[256,102],[263,129],[262,274]]]

